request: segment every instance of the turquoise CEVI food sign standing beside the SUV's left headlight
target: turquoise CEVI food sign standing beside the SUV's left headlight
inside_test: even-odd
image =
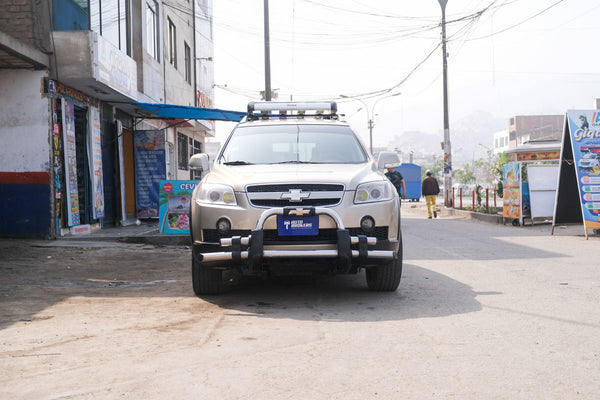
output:
[[[190,233],[190,204],[197,184],[198,181],[160,181],[160,233]]]

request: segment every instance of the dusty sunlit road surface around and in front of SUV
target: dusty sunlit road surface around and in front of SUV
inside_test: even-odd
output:
[[[598,238],[404,212],[394,293],[200,299],[185,246],[0,240],[0,399],[597,398]]]

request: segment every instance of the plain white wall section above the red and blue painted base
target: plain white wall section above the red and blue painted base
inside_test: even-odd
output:
[[[41,95],[46,71],[0,74],[0,171],[50,171],[49,100]]]

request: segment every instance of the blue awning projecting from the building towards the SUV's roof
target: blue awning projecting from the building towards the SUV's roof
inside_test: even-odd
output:
[[[245,112],[219,110],[217,108],[201,108],[179,106],[175,104],[161,103],[133,103],[135,106],[148,111],[149,118],[164,119],[202,119],[212,121],[239,122],[246,116]]]

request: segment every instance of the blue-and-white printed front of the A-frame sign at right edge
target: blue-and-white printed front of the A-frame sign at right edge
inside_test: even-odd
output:
[[[600,229],[600,111],[569,110],[567,122],[583,223]]]

